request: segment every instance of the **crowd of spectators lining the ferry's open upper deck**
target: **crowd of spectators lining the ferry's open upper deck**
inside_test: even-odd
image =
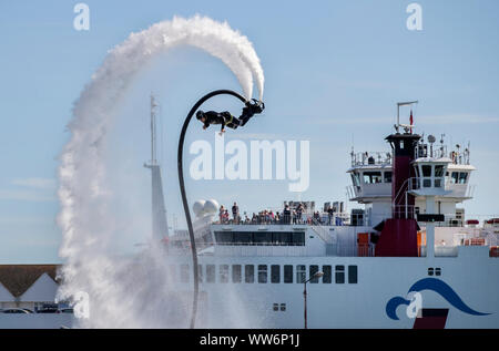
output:
[[[334,210],[332,207],[326,209],[327,216],[322,215],[318,210],[308,214],[302,203],[292,208],[288,204],[284,204],[281,211],[272,209],[263,209],[258,213],[253,213],[249,217],[246,211],[244,218],[240,214],[237,203],[232,206],[232,217],[228,209],[223,205],[218,211],[218,224],[235,224],[235,225],[332,225]]]

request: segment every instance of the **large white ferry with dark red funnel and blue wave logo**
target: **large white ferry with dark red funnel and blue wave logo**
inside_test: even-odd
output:
[[[304,202],[298,216],[288,202],[291,215],[278,220],[226,220],[216,202],[196,202],[196,326],[231,328],[232,312],[247,328],[499,328],[499,218],[465,214],[475,188],[469,145],[448,148],[444,135],[414,131],[413,113],[409,124],[397,116],[386,152],[352,152],[347,189],[363,208],[349,213],[343,203]],[[147,167],[161,239],[161,174],[154,162]],[[186,230],[164,241],[192,292]]]

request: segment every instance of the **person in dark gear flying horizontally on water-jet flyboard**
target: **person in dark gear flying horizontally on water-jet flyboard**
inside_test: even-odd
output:
[[[252,103],[253,101],[253,103]],[[262,113],[265,109],[265,104],[256,99],[247,101],[243,107],[243,112],[238,118],[234,117],[228,111],[215,112],[215,111],[197,111],[196,118],[203,123],[203,130],[206,130],[212,124],[221,124],[220,134],[225,133],[225,126],[230,128],[237,128],[243,126],[253,117],[256,113]]]

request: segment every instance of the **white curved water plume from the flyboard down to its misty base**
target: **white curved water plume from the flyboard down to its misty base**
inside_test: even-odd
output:
[[[130,34],[108,53],[74,103],[69,123],[71,140],[59,167],[58,224],[63,233],[60,256],[64,259],[59,297],[89,293],[91,316],[82,320],[82,327],[185,327],[176,317],[187,316],[184,309],[190,308],[172,290],[164,257],[153,249],[154,245],[133,258],[109,254],[118,218],[105,183],[104,153],[106,135],[116,117],[113,112],[136,74],[152,58],[180,45],[196,47],[221,59],[247,99],[255,81],[262,100],[264,74],[258,56],[248,39],[226,22],[200,16],[175,17]]]

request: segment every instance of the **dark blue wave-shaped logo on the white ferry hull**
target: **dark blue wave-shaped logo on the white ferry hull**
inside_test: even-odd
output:
[[[445,281],[436,278],[425,278],[421,280],[416,281],[409,289],[409,292],[420,292],[424,290],[430,290],[435,291],[438,295],[440,295],[444,299],[446,299],[447,302],[449,302],[451,306],[460,310],[461,312],[472,314],[472,316],[487,316],[490,313],[482,313],[473,310],[468,304],[466,304],[461,298],[454,291],[454,289],[447,285]],[[409,306],[410,301],[403,298],[403,297],[394,297],[386,303],[386,314],[394,319],[398,320],[397,317],[397,307],[400,304],[407,304]]]

